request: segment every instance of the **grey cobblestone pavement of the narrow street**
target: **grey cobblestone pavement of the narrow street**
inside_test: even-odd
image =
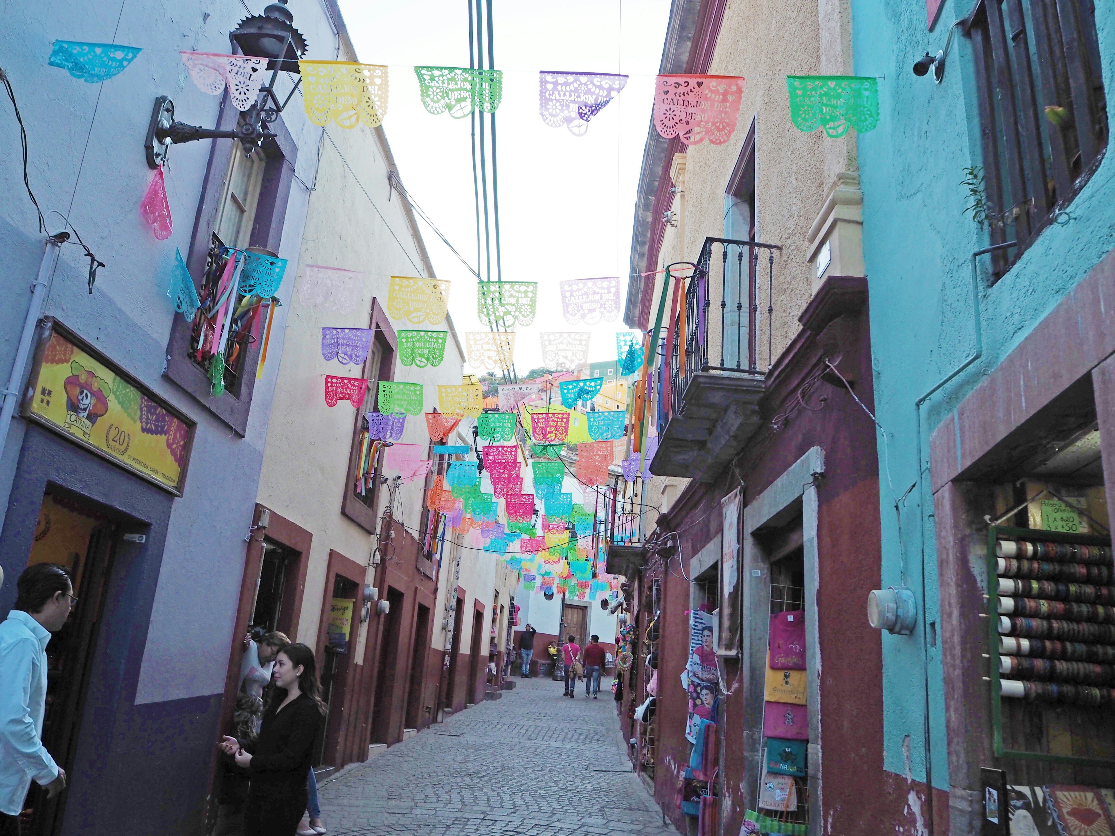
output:
[[[678,836],[631,771],[615,702],[515,679],[321,786],[333,836]],[[603,684],[603,683],[601,683]]]

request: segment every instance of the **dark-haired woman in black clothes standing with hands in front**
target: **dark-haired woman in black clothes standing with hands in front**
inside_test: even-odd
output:
[[[275,657],[275,692],[254,741],[225,737],[221,748],[248,769],[244,836],[294,836],[306,811],[306,779],[324,725],[313,651],[288,644]]]

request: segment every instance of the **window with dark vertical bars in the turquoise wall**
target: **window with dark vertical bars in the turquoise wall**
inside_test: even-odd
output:
[[[1107,147],[1092,0],[980,0],[964,22],[976,62],[983,205],[1000,278],[1072,203]]]

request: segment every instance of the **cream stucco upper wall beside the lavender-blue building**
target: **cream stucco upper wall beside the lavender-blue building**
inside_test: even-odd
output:
[[[326,375],[361,377],[362,369],[326,361],[321,356],[321,329],[367,328],[372,300],[386,304],[392,274],[434,273],[406,204],[397,196],[388,200],[387,176],[394,161],[381,128],[360,124],[342,129],[330,124],[319,146],[307,153],[318,153],[319,161],[298,261],[298,285],[287,318],[258,496],[262,505],[313,535],[297,636],[313,647],[326,594],[329,551],[367,565],[376,545],[375,536],[341,514],[357,410],[348,401],[328,407],[323,397]],[[298,290],[306,281],[308,264],[363,273],[360,302],[355,310],[338,313],[302,304]],[[401,321],[391,324],[396,330],[408,327]],[[437,402],[437,385],[457,385],[463,373],[464,353],[452,320],[447,319],[444,327],[449,330],[449,339],[440,366],[418,369],[396,361],[396,380],[424,385],[426,410],[433,410]],[[421,416],[408,417],[400,440],[429,443]],[[401,485],[396,504],[396,519],[415,536],[419,536],[425,502],[423,487],[421,479]],[[387,490],[380,489],[377,518],[386,499]],[[369,568],[369,582],[370,577]],[[368,623],[360,626],[357,636],[358,664],[363,659]]]

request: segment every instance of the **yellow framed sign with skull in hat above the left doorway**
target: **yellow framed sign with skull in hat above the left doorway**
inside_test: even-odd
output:
[[[182,496],[194,421],[55,319],[36,337],[21,415]]]

